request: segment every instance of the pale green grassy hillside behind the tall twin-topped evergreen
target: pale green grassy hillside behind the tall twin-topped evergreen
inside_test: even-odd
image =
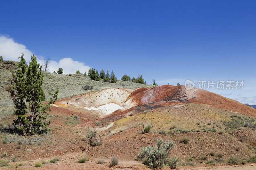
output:
[[[5,62],[6,63],[6,62]],[[9,62],[5,64],[0,62],[0,116],[12,115],[14,111],[14,105],[9,97],[10,94],[6,91],[6,87],[9,85],[9,78],[12,77],[12,71],[15,71],[17,67],[13,65],[15,62]],[[92,85],[93,89],[85,91],[83,85]],[[91,80],[88,76],[84,77],[83,74],[74,74],[72,76],[63,74],[54,74],[44,72],[44,84],[43,90],[46,95],[46,100],[49,100],[50,96],[48,91],[54,91],[60,88],[58,98],[67,98],[87,92],[107,89],[107,88],[126,88],[126,89],[137,89],[140,87],[154,87],[153,85],[144,85],[139,83],[133,83],[128,81],[117,80],[117,83],[106,83],[101,79],[100,82]]]

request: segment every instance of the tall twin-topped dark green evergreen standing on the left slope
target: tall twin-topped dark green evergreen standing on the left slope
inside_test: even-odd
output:
[[[36,61],[36,56],[31,56],[31,62],[29,62],[28,70],[26,69],[26,61],[21,55],[20,63],[18,64],[20,70],[13,73],[11,80],[11,97],[15,104],[15,115],[18,119],[13,120],[13,125],[18,125],[18,129],[22,130],[22,134],[33,135],[34,133],[46,132],[46,126],[49,122],[44,122],[46,119],[45,114],[50,111],[51,104],[57,100],[59,89],[55,91],[48,104],[43,105],[41,102],[45,100],[45,94],[42,89],[44,83],[44,75],[42,72],[42,66]],[[25,103],[28,103],[27,104]],[[30,109],[29,116],[26,117],[27,108]]]

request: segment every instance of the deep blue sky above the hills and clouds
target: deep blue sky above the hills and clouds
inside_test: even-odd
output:
[[[256,104],[256,1],[1,0],[0,6],[5,60],[22,49],[50,56],[55,66],[73,62],[67,72],[89,66],[113,70],[118,79],[142,74],[147,84],[244,80],[243,90],[212,91]],[[16,53],[7,51],[12,44]]]

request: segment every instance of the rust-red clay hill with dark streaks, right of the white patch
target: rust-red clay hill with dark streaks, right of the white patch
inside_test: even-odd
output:
[[[191,90],[186,90],[183,85],[161,85],[152,89],[139,88],[133,91],[125,102],[127,106],[133,107],[149,103],[162,106],[195,103],[256,116],[256,109],[236,100],[202,89],[192,88]]]

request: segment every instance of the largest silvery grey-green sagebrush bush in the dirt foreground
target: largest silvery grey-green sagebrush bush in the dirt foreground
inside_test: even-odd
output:
[[[141,147],[141,152],[138,153],[136,159],[142,160],[143,164],[150,168],[163,167],[168,163],[168,152],[174,146],[174,142],[163,141],[162,138],[156,140],[156,147],[149,146]]]

